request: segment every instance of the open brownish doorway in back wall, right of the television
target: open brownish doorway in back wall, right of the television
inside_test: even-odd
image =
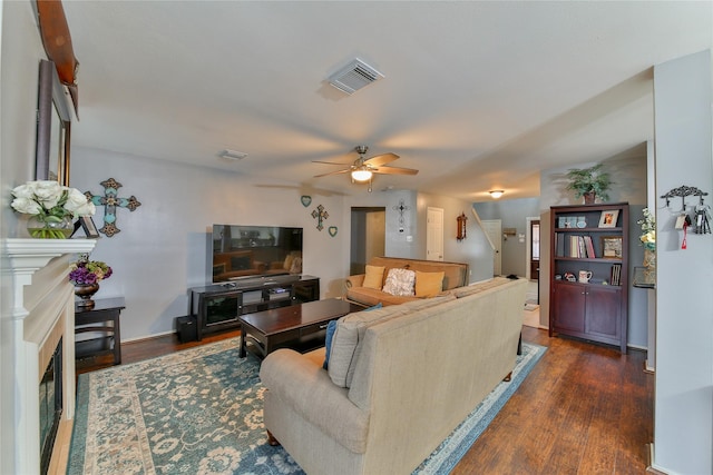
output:
[[[387,208],[352,208],[349,274],[364,274],[372,257],[385,254]]]

